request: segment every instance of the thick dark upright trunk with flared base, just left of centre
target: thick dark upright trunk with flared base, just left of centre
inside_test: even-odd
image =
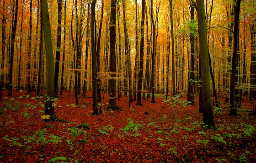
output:
[[[110,79],[108,80],[109,97],[108,109],[120,110],[117,106],[117,90],[116,90],[116,12],[117,0],[111,0],[111,12],[109,23],[109,72]]]

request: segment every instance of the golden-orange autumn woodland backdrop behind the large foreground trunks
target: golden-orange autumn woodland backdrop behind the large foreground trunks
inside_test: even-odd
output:
[[[142,1],[117,1],[115,58],[117,90],[120,94],[128,91],[128,74],[131,74],[130,84],[134,95],[137,90],[141,48],[139,47],[141,3]],[[110,4],[107,0],[97,1],[94,20],[99,65],[97,74],[102,81],[100,84],[104,91],[108,90],[107,80],[110,79]],[[150,90],[154,43],[153,80],[156,93],[164,93],[169,89],[172,90],[172,95],[187,94],[192,83],[190,94],[197,94],[200,90],[198,87],[200,78],[195,2],[161,0],[152,4],[153,10],[150,11],[150,2],[145,2],[142,90],[143,92]],[[243,91],[243,95],[247,95],[255,83],[254,5],[253,1],[242,1],[240,7],[236,87]],[[40,45],[40,1],[17,0],[17,13],[15,0],[4,0],[1,2],[1,8],[1,85],[9,88],[11,76],[13,89],[27,89],[28,92],[37,90],[38,95],[42,94],[40,90],[45,89],[46,59],[43,45]],[[229,96],[234,8],[235,3],[232,0],[205,2],[211,75],[215,81],[215,88],[212,89],[215,89],[218,97]],[[58,79],[56,88],[60,90],[61,95],[63,91],[74,90],[77,83],[75,89],[78,95],[85,95],[88,89],[92,89],[91,1],[48,0],[48,11],[55,59],[55,80]],[[155,25],[154,40],[153,25]],[[125,53],[125,37],[128,38],[130,55]],[[13,62],[12,71],[11,62]],[[75,78],[76,73],[77,78]],[[193,75],[189,76],[189,74]],[[56,78],[57,76],[59,77]],[[136,100],[136,96],[134,99]],[[218,103],[218,99],[215,100]]]

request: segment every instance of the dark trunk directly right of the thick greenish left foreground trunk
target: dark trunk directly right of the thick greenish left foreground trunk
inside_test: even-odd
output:
[[[58,2],[58,27],[57,27],[57,50],[54,69],[54,94],[58,97],[58,81],[59,81],[59,60],[60,60],[60,43],[61,43],[61,18],[62,18],[62,0]]]

